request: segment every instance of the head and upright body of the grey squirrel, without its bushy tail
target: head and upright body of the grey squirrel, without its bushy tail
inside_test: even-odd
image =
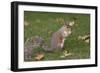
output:
[[[62,50],[66,37],[71,34],[71,26],[73,26],[73,24],[74,21],[64,23],[64,25],[57,32],[53,33],[50,47],[43,45],[43,49],[51,52],[54,50]]]

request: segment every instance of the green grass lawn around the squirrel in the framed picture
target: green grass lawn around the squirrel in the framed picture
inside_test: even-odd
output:
[[[64,49],[70,53],[63,59],[87,59],[90,58],[90,44],[82,40],[78,40],[78,36],[84,36],[90,33],[90,15],[89,14],[71,14],[71,13],[48,13],[48,12],[24,12],[24,20],[29,23],[24,27],[24,40],[32,36],[41,36],[45,42],[50,45],[52,33],[59,30],[63,25],[57,22],[57,18],[63,18],[71,21],[73,17],[77,18],[76,24],[72,28],[72,34],[66,38]],[[25,42],[24,41],[24,42]],[[42,48],[37,48],[36,51],[43,51]],[[60,56],[63,51],[44,52],[43,60],[62,60]],[[34,54],[33,54],[34,58]]]

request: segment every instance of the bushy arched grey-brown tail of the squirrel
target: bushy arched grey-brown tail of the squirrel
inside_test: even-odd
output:
[[[24,60],[32,60],[33,49],[42,46],[43,42],[44,40],[39,36],[27,39],[24,47]]]

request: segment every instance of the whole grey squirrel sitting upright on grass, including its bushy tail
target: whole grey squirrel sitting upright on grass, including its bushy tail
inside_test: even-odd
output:
[[[44,51],[53,52],[55,50],[62,50],[64,46],[64,41],[66,37],[71,34],[71,26],[73,26],[74,21],[66,22],[64,25],[56,32],[53,33],[51,37],[51,44],[48,46],[44,39],[39,36],[31,37],[25,42],[24,47],[24,59],[32,60],[32,51],[34,48],[41,47]]]

